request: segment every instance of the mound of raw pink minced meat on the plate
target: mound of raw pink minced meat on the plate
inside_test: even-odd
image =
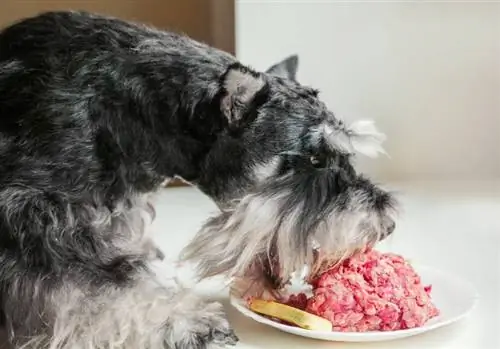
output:
[[[321,316],[334,331],[393,331],[424,325],[439,310],[431,301],[431,286],[403,257],[375,250],[357,254],[322,273],[313,295],[293,295],[286,302]]]

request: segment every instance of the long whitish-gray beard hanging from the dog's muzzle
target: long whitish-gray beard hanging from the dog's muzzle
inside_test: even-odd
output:
[[[309,203],[304,200],[289,209],[294,197],[292,191],[275,195],[250,194],[232,209],[207,222],[184,250],[190,256],[203,256],[204,263],[198,264],[198,275],[201,278],[219,274],[236,279],[251,277],[265,284],[266,280],[258,280],[260,275],[252,275],[259,272],[254,264],[272,259],[273,256],[269,256],[272,253],[274,257],[279,256],[274,266],[279,270],[277,275],[283,276],[286,282],[287,276],[304,265],[313,266],[315,246],[321,246],[322,253],[330,259],[342,260],[385,238],[396,215],[394,210],[384,216],[377,214],[370,209],[366,193],[352,189],[337,197],[346,205],[345,209],[331,210],[314,230],[297,239],[290,232],[299,234],[296,227],[304,219],[303,211]],[[331,205],[336,206],[335,202]],[[264,287],[259,291],[267,290]]]

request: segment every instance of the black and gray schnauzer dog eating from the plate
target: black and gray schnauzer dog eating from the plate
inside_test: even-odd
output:
[[[202,349],[238,338],[219,303],[151,269],[152,195],[175,177],[220,208],[180,261],[278,288],[315,244],[346,255],[394,230],[357,174],[383,152],[295,79],[141,24],[45,12],[0,33],[0,314],[30,349]],[[171,232],[175,234],[175,232]]]

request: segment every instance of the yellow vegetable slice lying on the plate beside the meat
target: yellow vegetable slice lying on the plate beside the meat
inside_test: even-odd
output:
[[[249,304],[250,310],[271,316],[289,323],[292,323],[300,328],[311,331],[331,331],[332,323],[322,317],[310,314],[300,309],[289,305],[265,301],[262,299],[252,299]]]

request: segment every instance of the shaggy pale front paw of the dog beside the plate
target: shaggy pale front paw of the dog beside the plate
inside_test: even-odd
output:
[[[170,324],[174,349],[224,348],[238,343],[220,303],[199,304],[184,315]]]

